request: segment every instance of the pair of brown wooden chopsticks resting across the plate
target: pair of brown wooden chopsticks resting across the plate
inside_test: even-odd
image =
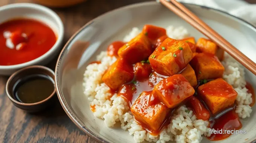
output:
[[[215,32],[212,28],[210,28],[204,21],[200,20],[193,12],[189,11],[185,6],[176,0],[170,0],[171,2],[167,2],[166,0],[160,0],[162,5],[166,6],[172,12],[177,14],[183,20],[187,21],[190,25],[195,27],[213,42],[215,42],[219,47],[224,49],[227,53],[229,53],[232,57],[234,57],[238,62],[240,62],[245,68],[250,70],[254,75],[256,75],[256,63],[250,60],[247,56],[241,53],[237,48],[235,48],[232,44],[226,41],[222,36],[220,36],[217,32]]]

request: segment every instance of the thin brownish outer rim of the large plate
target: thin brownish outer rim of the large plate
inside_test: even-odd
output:
[[[110,143],[110,142],[104,140],[102,137],[100,137],[99,135],[94,134],[92,131],[90,131],[90,129],[88,129],[87,127],[83,126],[81,121],[75,116],[73,111],[67,105],[67,102],[66,102],[66,100],[64,99],[64,96],[61,93],[60,83],[59,83],[59,66],[60,66],[60,63],[62,61],[62,57],[63,57],[65,51],[67,50],[67,47],[69,47],[70,43],[73,41],[73,39],[75,39],[76,36],[79,35],[79,33],[81,33],[86,27],[90,26],[97,19],[105,17],[106,15],[108,15],[108,14],[114,12],[114,11],[119,11],[121,9],[130,9],[130,8],[138,7],[138,6],[159,5],[159,4],[160,3],[155,2],[155,1],[134,3],[134,4],[131,4],[131,5],[122,6],[122,7],[117,8],[117,9],[113,9],[113,10],[108,11],[108,12],[102,14],[102,15],[99,15],[98,17],[94,18],[93,20],[90,20],[88,23],[86,23],[84,26],[82,26],[76,33],[74,33],[71,36],[71,38],[67,41],[67,43],[64,45],[64,47],[62,48],[62,50],[61,50],[61,52],[59,54],[59,57],[58,57],[58,60],[56,62],[56,66],[55,66],[55,87],[56,87],[56,93],[57,93],[59,102],[61,103],[62,108],[64,109],[66,114],[69,116],[69,118],[72,120],[72,122],[75,123],[75,125],[79,129],[81,129],[83,132],[85,132],[85,134],[87,134],[88,136],[92,137],[94,140],[96,140],[99,143]],[[207,6],[196,5],[196,4],[192,4],[192,3],[183,3],[183,4],[192,5],[192,6],[198,6],[198,7],[201,7],[203,9],[209,9],[209,10],[212,10],[212,11],[215,11],[215,12],[220,12],[220,13],[222,13],[224,15],[227,15],[229,17],[232,17],[232,18],[235,18],[236,20],[241,21],[241,23],[247,24],[248,26],[252,27],[256,31],[256,27],[253,24],[243,20],[242,18],[239,18],[239,17],[236,17],[234,15],[231,15],[231,14],[229,14],[226,11],[222,11],[220,9],[215,9],[215,8],[210,8],[210,7],[207,7]],[[256,138],[254,138],[254,140],[251,141],[250,143],[256,143]]]

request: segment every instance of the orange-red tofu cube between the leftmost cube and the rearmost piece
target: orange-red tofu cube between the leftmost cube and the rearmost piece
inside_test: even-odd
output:
[[[151,44],[147,36],[140,33],[130,42],[123,45],[117,53],[126,62],[133,64],[147,59],[152,53],[151,51]]]

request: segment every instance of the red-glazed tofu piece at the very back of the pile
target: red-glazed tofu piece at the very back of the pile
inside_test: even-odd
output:
[[[161,36],[165,36],[166,30],[162,27],[145,25],[142,29],[142,33],[148,37],[149,41],[154,42]]]

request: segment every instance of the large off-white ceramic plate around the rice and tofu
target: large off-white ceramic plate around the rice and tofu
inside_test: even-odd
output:
[[[256,27],[225,12],[198,5],[185,4],[198,17],[220,35],[256,62]],[[204,37],[180,17],[160,3],[145,2],[108,12],[87,23],[62,49],[55,69],[55,84],[59,101],[70,119],[85,133],[102,143],[134,143],[133,136],[120,127],[109,128],[104,120],[93,115],[90,102],[84,95],[83,74],[96,55],[116,40],[122,40],[133,27],[142,29],[145,24],[167,27],[185,27],[196,39]],[[246,80],[256,89],[256,76],[245,69]],[[247,134],[232,135],[223,141],[201,143],[255,143],[256,105],[250,117],[241,119],[242,130]]]

